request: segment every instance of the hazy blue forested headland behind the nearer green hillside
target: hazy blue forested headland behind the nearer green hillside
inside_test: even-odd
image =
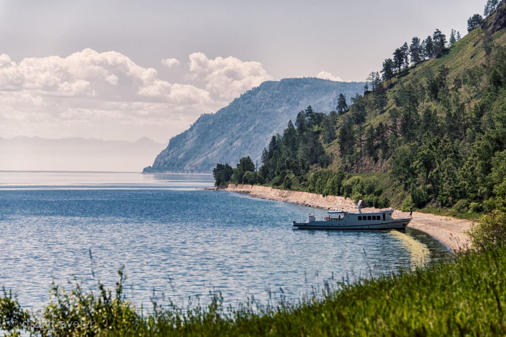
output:
[[[288,120],[311,105],[328,113],[343,93],[347,98],[363,92],[364,82],[334,82],[318,78],[267,81],[215,114],[203,114],[144,172],[210,173],[216,163],[237,163],[245,154],[260,163],[272,134],[282,132]]]

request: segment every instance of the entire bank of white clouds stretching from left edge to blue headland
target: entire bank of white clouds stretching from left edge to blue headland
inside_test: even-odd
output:
[[[162,61],[177,66],[176,59]],[[67,57],[0,55],[0,136],[97,137],[167,141],[202,113],[271,79],[262,64],[190,55],[197,84],[171,83],[117,52],[85,49]]]

